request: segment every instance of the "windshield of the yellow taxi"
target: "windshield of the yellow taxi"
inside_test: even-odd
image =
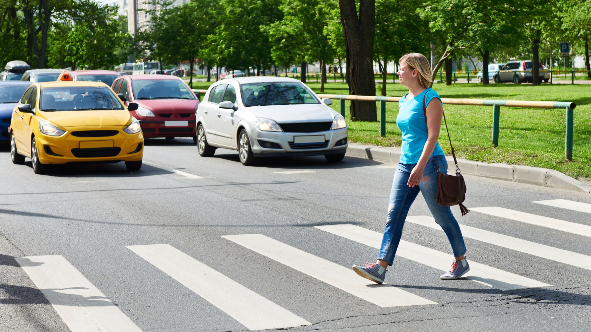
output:
[[[124,106],[106,86],[64,86],[41,89],[40,110],[45,112],[121,109],[124,109]]]

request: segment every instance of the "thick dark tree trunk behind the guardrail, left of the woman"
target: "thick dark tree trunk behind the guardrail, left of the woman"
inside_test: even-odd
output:
[[[375,0],[339,0],[340,21],[345,34],[347,83],[350,95],[375,96],[374,38]],[[350,103],[353,121],[378,121],[375,102]]]

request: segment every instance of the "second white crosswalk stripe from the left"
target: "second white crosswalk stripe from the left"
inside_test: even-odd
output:
[[[250,330],[311,324],[171,245],[126,247]]]

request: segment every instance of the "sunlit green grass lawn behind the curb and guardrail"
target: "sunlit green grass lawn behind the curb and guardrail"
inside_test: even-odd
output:
[[[209,84],[196,82],[193,85],[194,89],[207,89]],[[310,82],[308,85],[314,92],[320,92],[320,83]],[[591,178],[591,86],[508,83],[483,87],[476,83],[452,86],[436,83],[433,89],[446,98],[575,102],[573,161],[570,162],[564,159],[564,109],[502,107],[497,148],[492,147],[492,106],[444,105],[444,110],[458,157],[551,168],[572,177]],[[376,90],[379,91],[380,87],[376,86]],[[324,85],[324,93],[347,95],[348,92],[346,83]],[[407,92],[398,83],[387,86],[388,96],[403,96]],[[339,112],[339,102],[335,101],[332,107]],[[349,102],[346,102],[349,141],[385,147],[400,146],[400,130],[396,126],[398,103],[386,103],[385,137],[379,136],[379,105],[377,109],[378,122],[350,121]],[[449,143],[443,135],[444,132],[441,132],[439,143],[450,154]]]

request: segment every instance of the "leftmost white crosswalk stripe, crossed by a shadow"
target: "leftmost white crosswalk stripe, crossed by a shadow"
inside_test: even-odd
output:
[[[72,332],[141,332],[61,255],[15,258]]]

